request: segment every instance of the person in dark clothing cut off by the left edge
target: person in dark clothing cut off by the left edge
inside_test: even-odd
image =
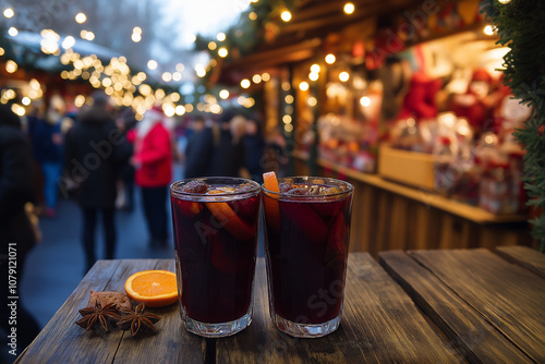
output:
[[[36,244],[36,234],[25,211],[34,202],[35,175],[31,145],[21,131],[21,123],[7,105],[0,105],[0,328],[8,335],[15,329],[15,342],[3,336],[2,355],[14,360],[36,335],[39,326],[23,304],[21,278],[27,254]],[[13,282],[13,283],[10,283]],[[12,287],[10,287],[12,284]],[[19,296],[19,299],[17,299]],[[12,310],[15,307],[15,321]],[[13,356],[11,356],[13,355]]]

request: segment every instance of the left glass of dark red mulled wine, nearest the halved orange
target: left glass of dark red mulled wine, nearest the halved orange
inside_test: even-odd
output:
[[[203,337],[252,321],[261,187],[238,178],[189,179],[170,186],[182,320]]]

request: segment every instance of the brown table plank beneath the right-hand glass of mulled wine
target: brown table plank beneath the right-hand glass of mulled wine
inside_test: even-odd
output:
[[[259,259],[252,325],[217,341],[217,363],[453,363],[411,299],[366,253],[350,255],[339,329],[316,339],[291,338],[268,315],[266,269]]]

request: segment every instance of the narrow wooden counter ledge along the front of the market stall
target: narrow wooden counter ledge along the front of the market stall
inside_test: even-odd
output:
[[[300,160],[307,160],[304,155],[294,154],[294,157]],[[332,161],[317,158],[316,163],[323,168],[328,168],[337,173],[347,175],[356,181],[373,185],[375,187],[389,191],[391,193],[420,202],[425,206],[438,208],[449,214],[459,216],[476,223],[506,223],[506,222],[523,222],[528,220],[524,214],[517,215],[496,215],[488,213],[480,207],[459,203],[453,199],[443,197],[436,193],[428,192],[424,189],[415,189],[391,182],[383,179],[377,174],[362,173],[351,168],[339,166]]]

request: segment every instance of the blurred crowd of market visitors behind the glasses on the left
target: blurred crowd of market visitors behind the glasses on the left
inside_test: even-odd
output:
[[[132,108],[113,107],[106,94],[96,92],[78,110],[69,110],[53,95],[25,118],[9,105],[0,105],[0,111],[1,266],[8,267],[8,248],[16,244],[20,275],[40,239],[38,220],[55,219],[60,198],[74,201],[81,209],[81,236],[74,241],[81,241],[86,271],[98,258],[117,257],[116,213],[133,211],[136,201],[142,203],[149,247],[168,245],[168,195],[177,166],[177,178],[262,182],[265,171],[282,174],[287,163],[281,133],[265,137],[259,116],[244,110],[174,119],[154,107],[138,121]],[[98,254],[97,231],[105,234],[104,254]],[[8,289],[2,283],[2,292]],[[38,327],[21,307],[20,317],[29,328],[24,344]]]

